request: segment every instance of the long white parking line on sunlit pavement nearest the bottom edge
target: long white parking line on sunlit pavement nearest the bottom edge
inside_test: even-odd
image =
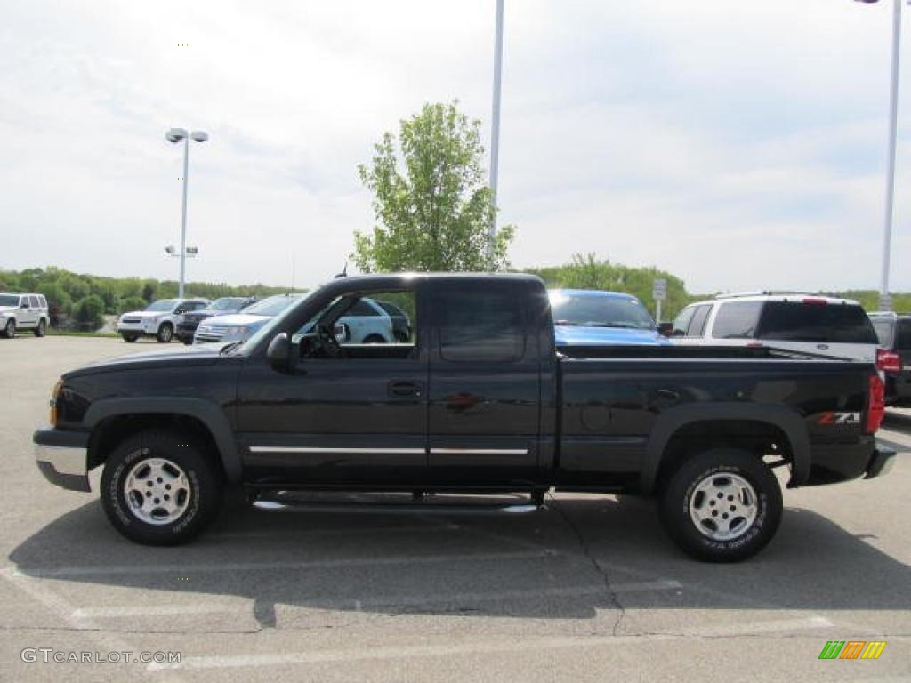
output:
[[[255,668],[275,667],[292,664],[316,664],[323,662],[352,662],[358,660],[401,659],[420,657],[445,657],[463,655],[496,654],[503,652],[522,652],[543,649],[564,649],[569,647],[605,647],[617,645],[647,644],[655,641],[673,640],[685,637],[742,637],[766,633],[787,632],[805,629],[831,627],[832,623],[824,617],[804,617],[794,619],[775,619],[753,622],[752,624],[735,624],[730,627],[711,629],[687,629],[677,633],[649,634],[646,636],[551,636],[523,637],[521,639],[473,640],[464,643],[447,643],[429,646],[368,647],[314,652],[275,653],[267,655],[230,655],[223,657],[186,657],[173,664],[153,662],[148,665],[149,671],[161,671],[172,668],[210,669],[210,668]]]

